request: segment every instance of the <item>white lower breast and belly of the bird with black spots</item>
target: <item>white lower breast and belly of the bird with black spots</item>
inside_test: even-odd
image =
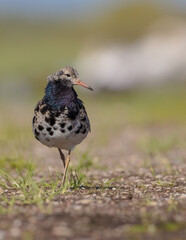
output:
[[[43,129],[39,130],[39,126],[42,126]],[[51,126],[45,121],[43,115],[39,115],[36,123],[33,124],[33,132],[35,130],[39,133],[37,139],[42,144],[71,150],[86,138],[89,126],[86,121],[82,122],[79,116],[73,121],[59,116],[56,118],[55,124]]]

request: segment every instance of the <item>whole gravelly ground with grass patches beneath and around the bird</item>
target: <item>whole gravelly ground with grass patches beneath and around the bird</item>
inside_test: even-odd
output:
[[[160,104],[152,99],[145,105],[141,96],[134,104],[134,97],[132,102],[114,97],[114,103],[107,95],[98,98],[99,108],[87,103],[87,109],[95,110],[89,114],[92,133],[72,153],[65,188],[59,184],[63,166],[58,152],[31,132],[13,130],[26,129],[32,112],[25,126],[18,119],[12,127],[15,138],[1,139],[0,240],[185,239],[182,109],[172,110],[170,103],[157,111]],[[108,108],[104,115],[103,106]],[[13,155],[7,154],[10,150]]]

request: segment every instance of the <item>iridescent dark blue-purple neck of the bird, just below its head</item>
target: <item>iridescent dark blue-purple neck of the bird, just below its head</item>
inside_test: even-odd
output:
[[[49,82],[45,89],[44,101],[52,110],[71,107],[77,100],[77,93],[73,87],[68,87],[60,82]]]

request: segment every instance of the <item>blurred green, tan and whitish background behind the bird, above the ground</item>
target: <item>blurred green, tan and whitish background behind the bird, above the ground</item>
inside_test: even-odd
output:
[[[1,0],[1,150],[32,146],[33,108],[65,65],[95,89],[76,88],[95,145],[126,125],[185,125],[185,26],[184,0]]]

